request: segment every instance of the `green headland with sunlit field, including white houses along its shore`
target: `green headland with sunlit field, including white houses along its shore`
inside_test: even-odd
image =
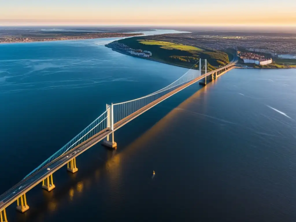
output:
[[[207,59],[207,70],[215,70],[229,63],[229,55],[226,52],[212,49],[203,49],[194,45],[185,45],[177,41],[161,41],[159,36],[139,36],[113,41],[105,46],[114,51],[131,56],[151,59],[170,65],[185,68],[199,69],[200,58]]]

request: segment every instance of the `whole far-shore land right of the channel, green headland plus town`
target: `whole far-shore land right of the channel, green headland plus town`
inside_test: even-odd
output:
[[[105,46],[186,68],[197,69],[199,58],[207,59],[209,71],[228,64],[234,55],[242,68],[296,67],[296,33],[188,31],[192,32],[125,38]]]

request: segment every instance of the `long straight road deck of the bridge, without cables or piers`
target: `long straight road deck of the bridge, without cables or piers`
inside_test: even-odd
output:
[[[231,70],[234,68],[234,65],[236,64],[236,61],[229,63],[228,65],[221,67],[219,69],[216,69],[214,71],[211,71],[207,73],[207,76],[212,75],[212,73],[215,73],[217,71],[223,70],[225,68],[229,68],[228,70],[225,70],[225,72]],[[223,73],[225,73],[223,72]],[[223,73],[219,74],[222,75]],[[201,75],[194,80],[178,87],[177,89],[165,94],[164,96],[160,97],[159,99],[149,103],[148,105],[144,106],[143,108],[139,109],[138,111],[132,113],[131,115],[127,116],[126,118],[120,120],[119,122],[114,124],[114,131],[118,130],[120,127],[124,126],[126,123],[130,122],[134,118],[138,117],[142,113],[146,112],[147,110],[151,109],[158,103],[162,102],[163,100],[167,99],[168,97],[172,96],[173,94],[176,94],[177,92],[181,91],[182,89],[185,89],[186,87],[192,85],[193,83],[196,83],[197,81],[200,81],[201,79],[205,78],[205,74]],[[96,143],[104,139],[107,135],[110,135],[112,131],[108,128],[105,128],[104,130],[100,131],[99,133],[95,134],[88,140],[84,141],[83,143],[79,144],[74,149],[70,150],[66,154],[58,157],[53,162],[47,164],[44,168],[37,171],[36,173],[32,174],[31,176],[23,179],[19,183],[17,183],[15,186],[13,186],[11,189],[7,190],[0,196],[0,212],[4,210],[7,206],[15,202],[18,198],[20,198],[21,195],[27,193],[30,189],[35,187],[37,184],[41,183],[45,178],[47,178],[49,175],[54,173],[55,171],[62,168],[64,165],[66,165],[70,160],[74,159],[90,147],[94,146]],[[47,170],[47,169],[50,170]]]

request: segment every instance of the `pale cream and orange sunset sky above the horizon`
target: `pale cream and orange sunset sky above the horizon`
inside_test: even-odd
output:
[[[0,25],[296,26],[296,0],[1,0]]]

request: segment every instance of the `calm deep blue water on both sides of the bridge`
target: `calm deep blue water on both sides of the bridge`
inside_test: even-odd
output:
[[[186,69],[112,39],[0,45],[0,193],[100,115]],[[9,221],[295,221],[296,70],[235,69],[194,84],[36,186]],[[152,172],[155,170],[155,177]]]

